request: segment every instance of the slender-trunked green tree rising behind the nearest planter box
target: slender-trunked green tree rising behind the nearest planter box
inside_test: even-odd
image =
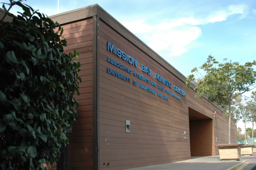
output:
[[[227,61],[219,63],[211,55],[208,56],[207,62],[200,69],[206,73],[203,80],[195,87],[196,98],[208,96],[208,101],[216,102],[220,106],[228,107],[228,143],[231,143],[231,104],[234,98],[251,90],[256,82],[256,71],[253,66],[256,62],[247,62],[241,65],[239,62]],[[195,67],[192,73],[198,72]],[[195,81],[194,75],[189,75],[186,80],[186,86],[191,87],[192,81]],[[234,95],[237,93],[236,95]]]

